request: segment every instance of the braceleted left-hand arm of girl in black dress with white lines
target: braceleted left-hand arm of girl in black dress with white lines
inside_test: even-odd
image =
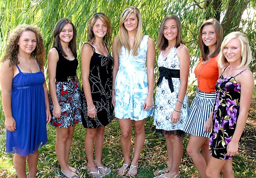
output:
[[[89,83],[90,60],[92,56],[93,56],[93,50],[91,46],[89,44],[84,44],[81,51],[82,84],[83,84],[84,94],[87,102],[87,115],[90,118],[95,118],[97,110],[93,104],[93,99],[92,99],[91,90],[90,90],[90,83]]]

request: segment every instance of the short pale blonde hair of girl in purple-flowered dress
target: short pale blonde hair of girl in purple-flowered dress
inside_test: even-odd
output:
[[[230,34],[228,34],[224,38],[223,42],[221,43],[221,51],[218,56],[218,65],[221,68],[224,68],[228,62],[223,54],[223,49],[227,45],[227,43],[229,43],[234,38],[238,39],[241,44],[242,61],[241,61],[241,64],[238,66],[238,68],[247,67],[250,64],[250,62],[252,61],[252,52],[250,50],[248,38],[246,37],[245,34],[239,32],[239,31],[233,31]]]

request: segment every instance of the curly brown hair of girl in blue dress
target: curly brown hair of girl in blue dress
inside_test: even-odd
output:
[[[10,67],[20,63],[18,60],[18,57],[17,57],[17,54],[19,51],[18,41],[20,40],[20,36],[23,33],[23,31],[32,31],[35,33],[37,43],[36,43],[35,50],[31,53],[31,56],[35,57],[38,60],[39,65],[41,67],[43,67],[44,60],[46,58],[43,37],[42,37],[41,33],[39,32],[39,29],[32,25],[20,25],[20,26],[17,26],[12,31],[12,33],[10,34],[10,36],[7,40],[6,51],[3,55],[2,62],[9,59]]]

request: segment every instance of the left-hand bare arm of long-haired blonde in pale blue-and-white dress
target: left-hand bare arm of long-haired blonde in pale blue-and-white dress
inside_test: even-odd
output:
[[[119,56],[117,54],[116,49],[116,38],[114,38],[112,43],[112,51],[113,51],[113,84],[112,84],[112,105],[115,106],[116,100],[115,100],[115,80],[116,80],[116,74],[119,69]]]

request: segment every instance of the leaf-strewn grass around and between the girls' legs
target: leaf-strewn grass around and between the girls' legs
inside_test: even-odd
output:
[[[246,133],[239,145],[239,154],[233,158],[233,170],[236,178],[256,177],[256,92],[247,119]],[[16,172],[12,164],[12,154],[5,150],[5,126],[3,113],[0,113],[0,177],[16,178]],[[139,172],[137,178],[153,178],[154,170],[163,169],[167,166],[167,152],[165,137],[160,133],[155,133],[153,119],[147,119],[145,124],[145,144],[139,161]],[[55,128],[47,126],[48,143],[39,150],[39,161],[37,175],[39,178],[62,177],[60,167],[55,154]],[[70,165],[80,170],[83,178],[90,177],[86,170],[87,159],[84,152],[85,129],[81,125],[76,125],[70,151]],[[111,174],[106,178],[120,178],[117,170],[122,166],[122,150],[120,146],[120,127],[116,119],[106,127],[105,142],[103,146],[102,162],[111,169]],[[132,135],[134,138],[134,133]],[[186,153],[186,145],[189,136],[183,138],[184,154],[180,164],[180,175],[182,178],[198,178],[191,158]],[[134,139],[132,139],[134,140]],[[134,143],[132,143],[134,144]],[[133,150],[131,150],[133,151]],[[125,177],[125,176],[124,176]]]

